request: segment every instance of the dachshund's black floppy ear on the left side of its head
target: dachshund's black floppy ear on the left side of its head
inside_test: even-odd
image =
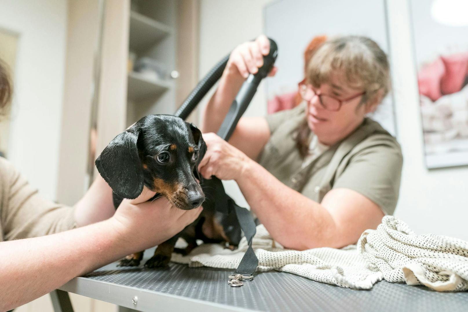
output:
[[[137,198],[143,190],[143,167],[138,154],[139,131],[130,128],[110,141],[96,159],[97,171],[115,194]]]

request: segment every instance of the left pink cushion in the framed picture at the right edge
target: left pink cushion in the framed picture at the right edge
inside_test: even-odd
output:
[[[444,63],[440,58],[436,58],[432,63],[425,65],[417,74],[417,84],[419,94],[427,96],[432,101],[439,99],[440,80],[445,73]]]

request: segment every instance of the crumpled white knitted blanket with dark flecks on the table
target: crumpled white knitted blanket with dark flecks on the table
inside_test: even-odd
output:
[[[424,284],[438,291],[468,289],[467,242],[434,234],[415,235],[392,216],[385,216],[377,230],[365,231],[357,246],[289,250],[259,225],[252,247],[259,271],[289,272],[341,287],[370,289],[384,278],[392,283]],[[190,267],[235,269],[246,250],[245,239],[234,251],[202,244],[188,256],[173,254],[171,260]]]

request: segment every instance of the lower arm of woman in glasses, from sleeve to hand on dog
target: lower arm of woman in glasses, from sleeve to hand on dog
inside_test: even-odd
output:
[[[205,178],[235,180],[250,209],[285,247],[344,247],[380,224],[379,206],[356,191],[332,189],[322,203],[314,202],[215,134],[205,134],[204,139],[208,151],[198,167],[200,173]]]

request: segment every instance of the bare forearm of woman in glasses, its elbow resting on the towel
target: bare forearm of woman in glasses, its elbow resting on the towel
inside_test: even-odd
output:
[[[250,161],[236,180],[273,239],[287,248],[343,247],[336,223],[320,204],[287,187]]]

